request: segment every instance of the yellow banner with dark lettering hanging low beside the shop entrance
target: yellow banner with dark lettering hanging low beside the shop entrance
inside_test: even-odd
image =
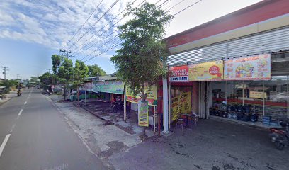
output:
[[[191,113],[191,91],[182,93],[179,96],[172,98],[171,100],[171,120],[175,121],[179,118],[182,113]]]

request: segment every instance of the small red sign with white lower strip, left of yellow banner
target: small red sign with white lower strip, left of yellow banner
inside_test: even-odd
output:
[[[188,82],[188,65],[169,67],[170,82]]]

